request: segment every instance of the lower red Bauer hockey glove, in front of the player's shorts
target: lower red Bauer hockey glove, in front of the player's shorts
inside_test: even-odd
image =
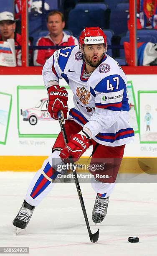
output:
[[[75,135],[71,135],[70,141],[61,149],[59,156],[63,162],[69,162],[69,156],[72,156],[76,162],[90,145],[88,135],[81,131],[80,134],[76,133]]]

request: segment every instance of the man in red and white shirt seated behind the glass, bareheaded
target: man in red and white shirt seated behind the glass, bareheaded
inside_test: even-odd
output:
[[[63,13],[54,10],[48,14],[47,28],[48,35],[38,39],[36,46],[72,46],[79,42],[74,36],[69,36],[63,32],[65,20]],[[56,51],[56,49],[35,50],[34,65],[43,66],[46,60]]]

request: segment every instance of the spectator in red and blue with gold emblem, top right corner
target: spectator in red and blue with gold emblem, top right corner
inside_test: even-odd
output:
[[[157,0],[137,0],[137,29],[141,28],[157,29]]]

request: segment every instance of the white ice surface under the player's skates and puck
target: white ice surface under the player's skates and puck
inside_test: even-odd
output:
[[[157,255],[157,184],[116,184],[100,225],[91,219],[96,193],[81,184],[91,231],[100,228],[97,243],[89,240],[75,184],[56,184],[15,236],[12,220],[33,176],[0,172],[0,247],[29,247],[29,256]],[[129,236],[139,237],[139,243],[129,243]]]

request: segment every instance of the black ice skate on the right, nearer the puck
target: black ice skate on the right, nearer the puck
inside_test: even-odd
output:
[[[92,211],[92,220],[94,223],[100,223],[104,220],[107,213],[108,203],[109,197],[101,198],[99,195],[96,196],[94,208]]]

